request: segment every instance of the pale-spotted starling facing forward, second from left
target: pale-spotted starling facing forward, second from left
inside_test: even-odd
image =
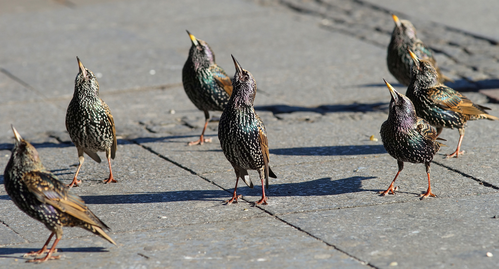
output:
[[[80,71],[74,79],[73,99],[66,112],[66,130],[76,149],[80,164],[69,187],[78,186],[81,180],[76,180],[83,164],[83,152],[100,163],[97,151],[105,151],[109,164],[109,178],[104,183],[118,182],[113,178],[111,159],[116,154],[116,129],[109,106],[99,97],[99,83],[92,71],[83,66],[80,59]]]

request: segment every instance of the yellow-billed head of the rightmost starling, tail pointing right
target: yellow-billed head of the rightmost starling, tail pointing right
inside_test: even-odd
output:
[[[416,54],[408,50],[414,62],[411,68],[411,84],[416,83],[418,88],[428,89],[440,84],[437,70],[430,60],[419,59]]]

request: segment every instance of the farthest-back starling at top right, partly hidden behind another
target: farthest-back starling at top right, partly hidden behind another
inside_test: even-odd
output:
[[[404,86],[408,86],[411,82],[411,56],[407,52],[408,49],[414,51],[420,59],[430,60],[437,69],[439,81],[452,81],[449,77],[440,72],[437,66],[437,61],[433,58],[433,51],[427,47],[421,39],[416,36],[416,28],[409,20],[400,20],[396,15],[393,15],[395,28],[393,28],[392,40],[388,45],[388,54],[386,62],[390,73]]]

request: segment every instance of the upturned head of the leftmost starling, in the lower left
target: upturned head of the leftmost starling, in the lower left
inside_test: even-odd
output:
[[[22,139],[14,126],[10,125],[10,127],[12,127],[12,132],[14,132],[15,143],[9,163],[12,163],[14,167],[25,172],[42,169],[43,165],[38,157],[38,151],[36,151],[33,145]]]

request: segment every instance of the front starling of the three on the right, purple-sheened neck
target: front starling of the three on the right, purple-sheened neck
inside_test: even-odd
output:
[[[388,119],[381,125],[381,141],[390,156],[397,160],[399,172],[395,175],[388,190],[379,193],[383,196],[395,194],[393,183],[404,169],[404,162],[410,162],[424,163],[426,167],[428,190],[419,195],[422,196],[421,200],[428,196],[437,197],[432,193],[430,185],[430,165],[440,147],[447,147],[436,140],[446,140],[438,138],[435,129],[426,120],[416,116],[416,110],[409,98],[398,93],[386,80],[385,83],[390,90],[392,100],[390,101]]]

